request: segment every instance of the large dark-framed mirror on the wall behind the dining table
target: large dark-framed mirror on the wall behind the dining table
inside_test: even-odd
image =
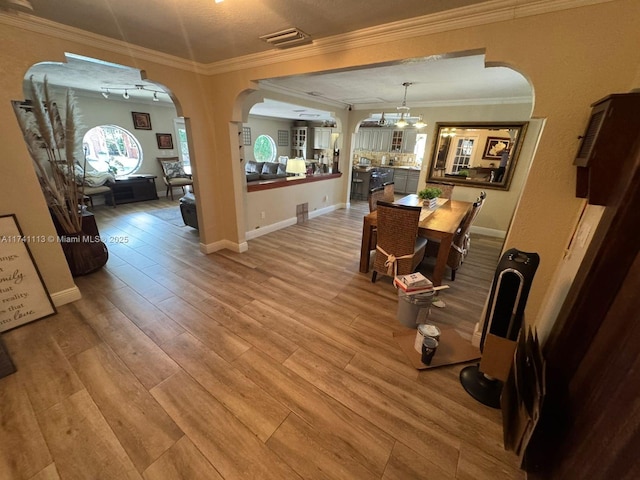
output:
[[[508,190],[528,122],[438,123],[429,181]]]

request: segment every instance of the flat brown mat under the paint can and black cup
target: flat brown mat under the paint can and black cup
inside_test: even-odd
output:
[[[463,338],[458,331],[448,325],[440,325],[432,322],[440,329],[440,341],[436,353],[433,355],[431,365],[422,363],[422,355],[414,348],[417,331],[414,329],[404,329],[394,332],[393,337],[400,346],[400,349],[411,362],[411,365],[418,370],[442,367],[443,365],[454,365],[456,363],[470,362],[480,358],[480,350],[471,342]]]

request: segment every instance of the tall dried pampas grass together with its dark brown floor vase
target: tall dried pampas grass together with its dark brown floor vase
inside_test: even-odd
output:
[[[40,85],[32,76],[29,94],[30,102],[13,102],[13,108],[69,269],[74,276],[85,275],[102,267],[109,254],[99,238],[82,231],[79,186],[84,182],[84,165],[77,158],[84,159],[84,155],[75,96],[67,90],[63,120],[46,77]]]

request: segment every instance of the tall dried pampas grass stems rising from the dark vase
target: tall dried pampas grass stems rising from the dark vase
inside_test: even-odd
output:
[[[75,163],[82,145],[77,132],[79,115],[75,96],[67,90],[66,119],[63,122],[46,77],[40,85],[32,76],[29,79],[29,92],[33,101],[31,111],[24,109],[20,102],[14,102],[13,109],[40,187],[60,227],[65,233],[78,233],[82,230],[82,210],[78,205],[80,194],[75,178]]]

